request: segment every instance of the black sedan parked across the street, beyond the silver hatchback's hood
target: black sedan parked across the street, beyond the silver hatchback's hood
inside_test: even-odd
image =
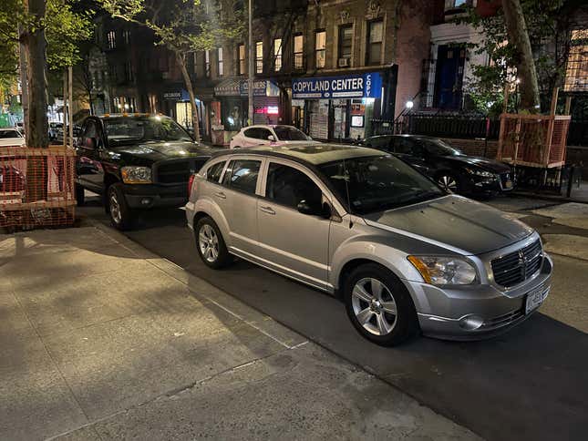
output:
[[[445,190],[488,195],[511,191],[513,188],[513,174],[509,165],[466,155],[439,138],[381,135],[366,138],[363,145],[397,155],[421,173],[435,179]]]

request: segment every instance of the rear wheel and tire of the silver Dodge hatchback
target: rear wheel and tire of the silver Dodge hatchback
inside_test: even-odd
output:
[[[219,270],[232,262],[231,254],[222,239],[222,233],[214,220],[205,216],[194,226],[196,249],[202,262],[214,270]]]

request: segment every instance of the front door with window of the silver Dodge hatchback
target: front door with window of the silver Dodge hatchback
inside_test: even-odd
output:
[[[285,159],[268,159],[263,197],[257,201],[259,253],[263,264],[294,279],[325,289],[331,220],[303,214],[303,200],[322,207],[329,198],[320,180]]]

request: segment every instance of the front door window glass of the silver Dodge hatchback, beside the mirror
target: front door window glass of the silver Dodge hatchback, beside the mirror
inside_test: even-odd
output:
[[[320,207],[323,192],[302,171],[273,162],[267,172],[265,197],[293,209],[303,200],[311,206]]]

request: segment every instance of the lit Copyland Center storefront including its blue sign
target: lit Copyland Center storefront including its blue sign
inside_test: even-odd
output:
[[[299,77],[292,81],[293,124],[317,139],[343,140],[371,135],[371,119],[387,103],[387,75],[363,72],[339,77]]]

